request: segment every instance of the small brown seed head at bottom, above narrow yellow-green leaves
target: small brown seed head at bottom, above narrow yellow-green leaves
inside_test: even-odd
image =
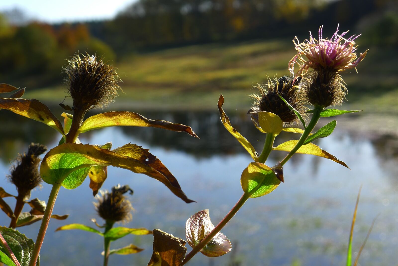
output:
[[[133,210],[133,207],[130,201],[123,196],[128,191],[130,191],[130,194],[133,194],[133,190],[127,185],[123,187],[117,185],[112,188],[112,192],[101,191],[101,196],[97,195],[98,202],[94,203],[98,215],[107,221],[107,223],[130,221],[130,212]]]

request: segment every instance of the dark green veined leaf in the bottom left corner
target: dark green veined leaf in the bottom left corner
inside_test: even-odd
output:
[[[33,240],[28,239],[17,230],[7,227],[0,227],[0,233],[3,235],[21,266],[28,266],[35,246]],[[1,245],[0,250],[5,252]],[[37,259],[36,266],[39,266],[39,258]]]

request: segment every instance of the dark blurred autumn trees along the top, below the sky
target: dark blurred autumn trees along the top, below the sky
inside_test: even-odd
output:
[[[26,84],[32,88],[59,81],[64,60],[77,51],[117,60],[188,44],[308,36],[320,25],[332,33],[338,23],[359,28],[362,42],[396,46],[397,6],[396,0],[139,0],[113,20],[56,25],[10,25],[0,14],[0,83],[34,76]]]

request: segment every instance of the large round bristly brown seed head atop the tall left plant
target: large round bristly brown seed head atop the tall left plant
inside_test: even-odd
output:
[[[76,54],[64,67],[65,83],[73,99],[73,107],[88,111],[106,107],[120,89],[115,68],[97,60],[94,55]]]

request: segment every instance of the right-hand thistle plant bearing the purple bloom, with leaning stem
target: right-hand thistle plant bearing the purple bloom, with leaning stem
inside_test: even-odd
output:
[[[232,244],[220,230],[248,199],[265,196],[284,182],[283,167],[295,153],[328,158],[348,168],[343,161],[313,144],[317,139],[328,137],[336,127],[336,120],[334,120],[313,132],[320,117],[357,112],[357,110],[326,109],[328,106],[341,104],[345,96],[346,89],[342,85],[343,80],[339,73],[355,68],[367,53],[366,51],[357,57],[354,42],[356,37],[353,35],[345,39],[342,36],[346,33],[338,35],[337,30],[332,39],[323,39],[322,27],[320,27],[318,40],[310,35],[309,41],[296,43],[297,37],[295,37],[293,42],[297,55],[288,64],[291,76],[275,78],[273,81],[268,80],[267,84],[258,85],[259,94],[252,96],[254,103],[248,114],[251,115],[256,128],[265,134],[261,152],[258,153],[253,145],[231,125],[222,108],[224,97],[220,96],[218,108],[222,124],[246,149],[253,160],[243,170],[240,177],[243,195],[217,226],[211,222],[208,209],[195,213],[187,220],[185,237],[193,249],[186,256],[185,241],[163,232],[160,235],[164,244],[158,244],[159,240],[156,239],[154,230],[154,252],[149,266],[185,265],[199,251],[210,257],[222,256],[229,252]],[[296,63],[300,69],[295,73]],[[307,74],[309,68],[312,68],[312,71]],[[306,106],[311,105],[313,108],[307,109]],[[307,123],[309,114],[312,116]],[[303,129],[292,127],[294,123],[298,123],[297,121],[302,124]],[[281,131],[298,133],[301,136],[297,140],[287,141],[274,147],[275,138]],[[270,167],[266,162],[273,151],[285,151],[288,154],[283,160]],[[174,250],[160,252],[162,247],[173,244]],[[175,253],[178,255],[172,256]]]

